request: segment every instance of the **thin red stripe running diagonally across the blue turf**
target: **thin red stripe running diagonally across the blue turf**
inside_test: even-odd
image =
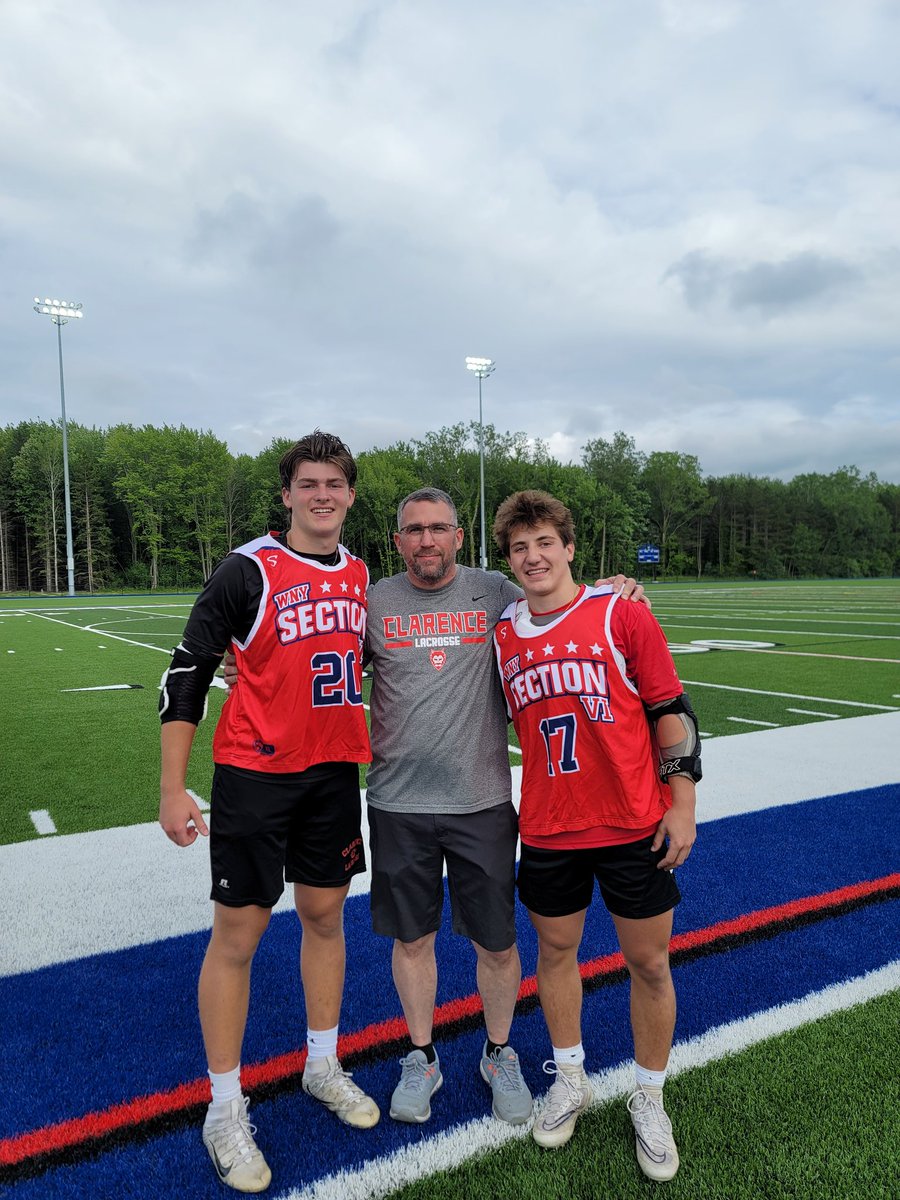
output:
[[[721,920],[715,925],[708,925],[706,929],[676,934],[670,943],[670,949],[672,954],[677,954],[679,950],[691,950],[697,947],[710,946],[715,942],[739,936],[740,934],[766,928],[776,928],[797,917],[823,912],[854,900],[864,900],[868,896],[890,892],[894,888],[900,888],[900,872],[886,875],[880,880],[852,883],[848,887],[836,888],[833,892],[823,892],[820,895],[802,896],[799,900],[774,905],[770,908],[758,908],[756,912],[749,912],[743,917],[734,917],[730,920]],[[596,979],[601,976],[622,971],[624,967],[625,960],[617,952],[583,962],[580,970],[582,978]],[[538,980],[534,976],[529,976],[522,980],[518,998],[526,1000],[535,996],[536,992]],[[474,1016],[480,1012],[481,997],[476,992],[470,996],[462,996],[458,1000],[450,1000],[436,1008],[434,1028],[439,1031],[448,1025]],[[338,1043],[338,1052],[342,1057],[350,1056],[377,1046],[389,1045],[391,1042],[401,1042],[406,1036],[406,1021],[400,1016],[392,1016],[386,1021],[367,1025],[354,1033],[343,1034]],[[299,1075],[305,1062],[306,1051],[294,1050],[289,1054],[269,1058],[266,1062],[241,1068],[241,1079],[244,1086],[247,1088],[258,1087],[263,1084],[278,1082],[280,1080]],[[208,1102],[209,1081],[197,1079],[188,1084],[181,1084],[169,1092],[155,1092],[152,1096],[143,1096],[122,1104],[114,1104],[101,1112],[89,1112],[83,1117],[74,1117],[70,1121],[62,1121],[59,1124],[44,1126],[42,1129],[17,1134],[13,1138],[5,1138],[0,1141],[0,1165],[13,1166],[41,1154],[86,1145],[119,1129],[140,1126],[156,1117],[170,1116],[184,1109]]]

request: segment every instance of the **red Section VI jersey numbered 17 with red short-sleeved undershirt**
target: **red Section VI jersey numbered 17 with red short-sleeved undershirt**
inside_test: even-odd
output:
[[[522,746],[526,844],[599,826],[631,830],[634,841],[672,803],[642,701],[668,700],[682,685],[655,618],[618,600],[584,588],[539,625],[518,601],[497,625],[497,661]]]

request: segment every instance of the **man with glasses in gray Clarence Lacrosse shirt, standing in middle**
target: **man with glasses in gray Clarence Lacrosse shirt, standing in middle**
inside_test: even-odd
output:
[[[492,635],[522,593],[499,571],[456,562],[463,532],[446,492],[412,492],[400,503],[397,528],[406,571],[370,588],[366,632],[374,668],[367,778],[372,924],[394,938],[394,982],[409,1030],[390,1115],[427,1121],[443,1084],[432,1033],[446,864],[454,931],[469,938],[476,955],[487,1034],[481,1078],[492,1090],[494,1116],[521,1124],[532,1114],[532,1094],[509,1044],[522,977],[517,818]]]

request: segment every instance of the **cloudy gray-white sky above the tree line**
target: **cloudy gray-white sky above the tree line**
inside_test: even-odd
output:
[[[0,425],[900,481],[895,0],[0,0]]]

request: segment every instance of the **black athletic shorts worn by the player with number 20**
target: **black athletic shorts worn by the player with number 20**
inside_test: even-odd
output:
[[[343,887],[366,869],[359,768],[323,762],[264,775],[216,763],[210,812],[211,900],[271,908],[284,882]]]

